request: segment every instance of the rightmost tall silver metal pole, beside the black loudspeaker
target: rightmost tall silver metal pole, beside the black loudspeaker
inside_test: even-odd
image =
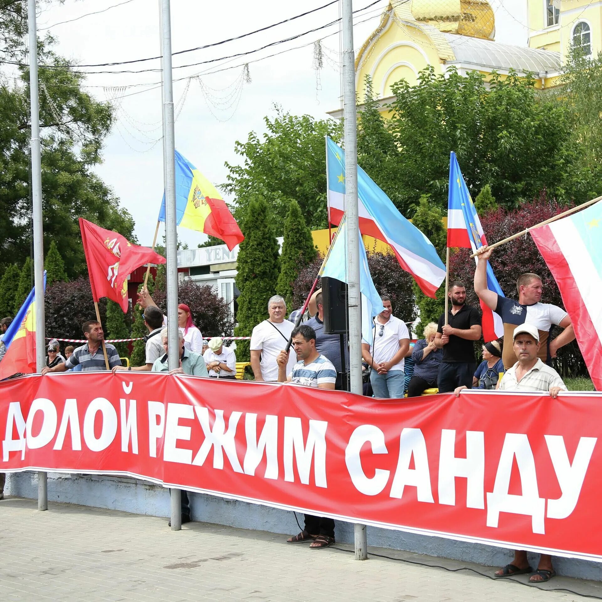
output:
[[[347,299],[349,300],[349,367],[351,392],[362,394],[362,328],[359,292],[358,143],[355,109],[355,52],[352,0],[341,0],[343,17],[343,119],[345,140],[345,205],[347,209]],[[355,559],[368,557],[366,526],[355,525]]]

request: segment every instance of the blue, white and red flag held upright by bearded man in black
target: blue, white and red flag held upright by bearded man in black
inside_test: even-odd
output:
[[[473,253],[487,244],[483,228],[474,208],[468,187],[462,178],[455,152],[450,155],[450,189],[447,197],[447,246],[472,249]],[[477,258],[474,258],[477,261]],[[504,297],[491,265],[487,264],[487,288]],[[485,343],[504,336],[501,317],[481,301],[483,339]]]

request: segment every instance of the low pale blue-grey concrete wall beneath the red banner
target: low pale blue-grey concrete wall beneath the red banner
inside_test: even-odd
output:
[[[37,498],[37,473],[7,474],[4,494]],[[155,517],[169,517],[170,512],[167,489],[126,477],[49,473],[48,500]],[[195,521],[290,535],[299,532],[293,512],[286,510],[196,493],[190,494],[190,503]],[[297,517],[303,526],[303,516],[297,514]],[[353,524],[337,521],[335,535],[339,542],[353,543]],[[504,566],[512,560],[512,553],[502,548],[376,527],[368,527],[368,547],[370,545],[487,566]],[[537,562],[536,555],[530,555],[531,566],[537,566]],[[602,563],[557,558],[554,567],[565,576],[602,581]]]

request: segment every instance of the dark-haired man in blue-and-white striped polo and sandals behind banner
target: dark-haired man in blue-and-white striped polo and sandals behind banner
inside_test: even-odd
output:
[[[288,353],[284,349],[278,358],[278,382],[291,382],[296,385],[312,386],[318,389],[334,389],[337,370],[334,365],[315,349],[315,330],[307,324],[297,326],[293,332],[293,347],[297,363],[287,377]],[[335,542],[335,521],[332,518],[305,515],[305,529],[287,539],[288,544],[311,541],[312,550],[327,548]]]

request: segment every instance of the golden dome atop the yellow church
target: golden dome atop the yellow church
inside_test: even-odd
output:
[[[445,33],[494,39],[495,17],[486,0],[412,0],[412,16]]]

